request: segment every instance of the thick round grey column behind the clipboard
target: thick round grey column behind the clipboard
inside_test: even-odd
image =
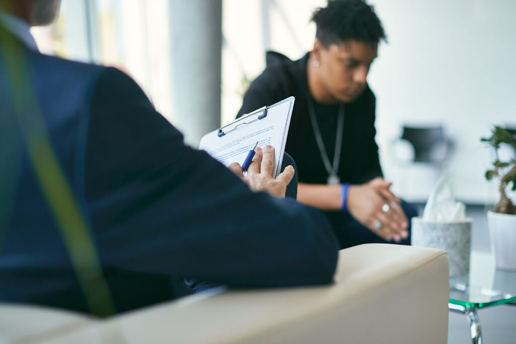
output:
[[[170,0],[172,122],[197,147],[220,126],[222,0]]]

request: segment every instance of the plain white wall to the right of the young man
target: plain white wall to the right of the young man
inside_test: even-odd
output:
[[[483,172],[492,155],[479,138],[493,123],[516,123],[516,2],[371,3],[389,35],[369,78],[386,174],[396,179],[387,148],[401,123],[443,123],[456,142],[447,172],[457,197],[491,202],[495,185],[485,182]]]

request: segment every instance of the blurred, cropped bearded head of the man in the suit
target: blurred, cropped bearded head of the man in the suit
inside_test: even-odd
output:
[[[30,26],[51,24],[60,5],[61,0],[0,0],[0,10],[23,19]]]

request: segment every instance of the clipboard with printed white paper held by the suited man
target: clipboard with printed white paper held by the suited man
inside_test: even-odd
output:
[[[233,161],[241,165],[256,141],[262,148],[270,144],[276,153],[272,176],[277,177],[281,173],[294,101],[293,96],[288,97],[221,126],[202,137],[199,149],[206,151],[224,166],[228,166]]]

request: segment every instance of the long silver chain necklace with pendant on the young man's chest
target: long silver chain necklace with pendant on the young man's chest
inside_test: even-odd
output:
[[[341,149],[342,149],[342,135],[344,131],[344,103],[338,104],[338,119],[337,119],[337,133],[335,136],[335,154],[333,155],[333,164],[330,164],[330,158],[326,153],[324,142],[322,141],[322,135],[315,116],[315,108],[310,95],[307,93],[308,112],[310,113],[310,120],[312,122],[312,128],[314,129],[315,140],[317,141],[317,147],[324,163],[326,172],[328,173],[327,184],[338,185],[341,184],[341,178],[338,177],[338,165],[341,161]]]

